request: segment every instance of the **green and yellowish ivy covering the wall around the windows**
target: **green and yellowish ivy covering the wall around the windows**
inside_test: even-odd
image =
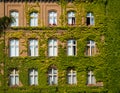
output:
[[[112,0],[109,2],[86,0],[79,3],[76,0],[73,2],[74,5],[66,5],[66,2],[61,0],[58,4],[63,8],[60,27],[19,27],[5,33],[7,53],[9,39],[20,40],[21,46],[24,46],[20,49],[20,55],[24,55],[27,54],[28,40],[37,38],[39,40],[38,57],[25,55],[11,58],[7,53],[4,56],[4,42],[1,38],[0,49],[3,52],[0,54],[0,59],[5,59],[1,61],[1,64],[5,62],[5,69],[3,65],[0,66],[4,69],[4,75],[0,74],[1,93],[119,93],[119,13],[115,15],[118,11],[116,5],[119,6],[119,3]],[[79,21],[76,27],[68,27],[66,24],[65,14],[67,8],[71,7],[77,11],[76,19]],[[95,26],[87,27],[85,23],[81,23],[81,18],[85,17],[89,11],[95,15]],[[57,57],[48,57],[49,38],[59,41]],[[71,38],[77,41],[77,55],[73,57],[67,56],[67,40]],[[88,40],[96,42],[99,51],[95,56],[89,57],[84,53]],[[51,65],[55,65],[58,69],[58,85],[48,85],[47,70]],[[77,71],[77,85],[67,84],[66,74],[69,67],[74,67]],[[9,86],[11,68],[19,70],[19,87]],[[38,69],[38,86],[29,85],[28,70],[31,68]],[[97,82],[103,82],[103,87],[87,86],[89,70],[93,70]]]

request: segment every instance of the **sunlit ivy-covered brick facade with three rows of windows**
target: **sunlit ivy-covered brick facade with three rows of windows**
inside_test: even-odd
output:
[[[0,9],[14,18],[1,34],[2,92],[106,92],[104,1],[8,0]]]

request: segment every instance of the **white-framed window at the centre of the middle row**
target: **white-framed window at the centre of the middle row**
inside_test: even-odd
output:
[[[50,39],[48,47],[49,56],[57,56],[57,40]]]

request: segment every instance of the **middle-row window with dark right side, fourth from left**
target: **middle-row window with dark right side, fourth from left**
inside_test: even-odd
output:
[[[68,40],[67,42],[68,47],[68,56],[76,55],[76,41],[75,40]]]

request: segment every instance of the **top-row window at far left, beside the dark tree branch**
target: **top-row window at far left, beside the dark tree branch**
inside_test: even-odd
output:
[[[11,26],[18,26],[19,25],[19,13],[16,11],[10,12],[11,17],[13,17],[13,22],[11,23]]]

